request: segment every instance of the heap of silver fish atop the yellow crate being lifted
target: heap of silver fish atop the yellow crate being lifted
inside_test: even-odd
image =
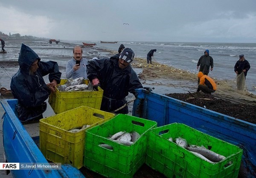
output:
[[[76,78],[74,80],[67,80],[64,85],[58,86],[58,90],[61,92],[71,92],[71,91],[92,91],[93,87],[89,82],[89,85],[84,83],[84,78]]]

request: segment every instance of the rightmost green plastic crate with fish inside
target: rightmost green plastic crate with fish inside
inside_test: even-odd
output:
[[[182,123],[151,129],[146,164],[176,178],[235,178],[243,150]]]

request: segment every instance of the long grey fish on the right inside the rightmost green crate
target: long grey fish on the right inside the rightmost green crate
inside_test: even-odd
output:
[[[216,163],[220,162],[226,158],[222,155],[219,155],[218,153],[215,153],[209,149],[202,148],[202,147],[188,146],[186,149],[188,149],[189,151],[192,151],[192,152],[197,152],[197,153],[203,155],[205,158],[209,159],[210,161],[216,162]]]

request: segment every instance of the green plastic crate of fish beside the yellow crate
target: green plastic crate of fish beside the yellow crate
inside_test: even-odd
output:
[[[131,178],[145,163],[147,134],[157,122],[119,114],[86,131],[84,167],[112,178]]]

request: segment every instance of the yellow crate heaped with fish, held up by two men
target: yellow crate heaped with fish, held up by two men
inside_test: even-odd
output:
[[[84,80],[84,78],[74,80],[61,79],[56,92],[51,92],[49,96],[49,104],[55,114],[79,106],[100,109],[102,96],[103,90],[99,88],[99,91],[94,91],[89,80]]]

